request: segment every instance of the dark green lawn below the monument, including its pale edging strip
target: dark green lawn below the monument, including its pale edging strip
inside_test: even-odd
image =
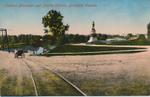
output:
[[[121,51],[121,50],[126,50],[126,51]],[[45,53],[42,55],[63,56],[63,55],[121,54],[121,53],[137,53],[137,52],[143,52],[145,50],[146,48],[142,48],[142,47],[137,48],[137,47],[63,45],[49,51],[49,53]]]

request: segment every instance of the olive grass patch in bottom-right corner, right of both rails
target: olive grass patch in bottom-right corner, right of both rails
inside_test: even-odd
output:
[[[95,84],[96,83],[96,84]],[[133,96],[150,95],[150,84],[132,81],[130,83],[108,84],[104,81],[84,81],[79,86],[91,96]]]

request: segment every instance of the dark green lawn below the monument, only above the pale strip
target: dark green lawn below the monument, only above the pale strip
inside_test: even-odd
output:
[[[96,52],[96,51],[116,51],[116,50],[134,50],[134,49],[144,49],[144,48],[63,45],[50,51],[50,53]]]

